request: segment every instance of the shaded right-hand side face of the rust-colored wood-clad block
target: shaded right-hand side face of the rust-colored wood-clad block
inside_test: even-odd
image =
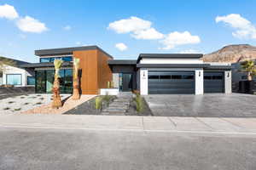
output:
[[[112,81],[112,71],[108,65],[108,59],[111,59],[107,54],[97,50],[98,56],[98,88],[108,88],[108,82]]]

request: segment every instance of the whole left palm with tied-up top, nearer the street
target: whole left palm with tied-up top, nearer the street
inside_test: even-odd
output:
[[[63,61],[61,59],[55,59],[54,64],[55,64],[55,82],[52,88],[53,92],[53,101],[52,101],[52,108],[59,108],[62,106],[61,103],[61,95],[60,95],[60,74],[59,71],[61,69]]]

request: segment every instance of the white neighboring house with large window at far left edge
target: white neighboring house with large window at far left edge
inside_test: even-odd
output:
[[[11,60],[15,61],[15,65],[4,65],[2,85],[13,85],[15,87],[34,86],[35,77],[33,69],[20,67],[20,65],[30,63],[17,59]]]

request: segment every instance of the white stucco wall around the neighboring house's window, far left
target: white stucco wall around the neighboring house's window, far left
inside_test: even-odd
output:
[[[26,86],[26,77],[32,77],[29,72],[25,69],[20,69],[14,66],[5,65],[3,70],[3,84],[6,84],[6,75],[8,74],[20,74],[21,75],[21,85],[17,86]]]

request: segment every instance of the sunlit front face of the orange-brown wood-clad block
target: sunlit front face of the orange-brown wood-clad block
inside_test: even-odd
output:
[[[74,51],[73,57],[80,59],[82,94],[99,94],[97,50]]]

